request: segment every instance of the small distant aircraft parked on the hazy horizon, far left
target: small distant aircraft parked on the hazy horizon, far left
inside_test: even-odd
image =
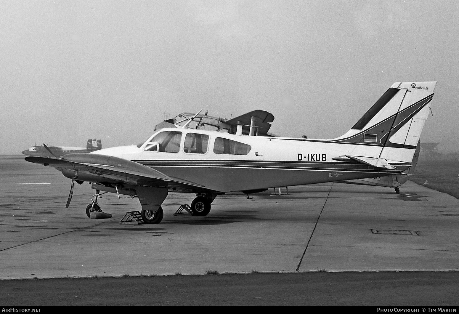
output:
[[[43,144],[43,146],[37,146],[37,143],[35,143],[35,145],[30,146],[28,150],[22,151],[22,153],[29,156],[60,158],[65,154],[89,153],[100,149],[102,149],[101,140],[88,139],[86,142],[86,148],[73,146],[47,146],[45,144]]]

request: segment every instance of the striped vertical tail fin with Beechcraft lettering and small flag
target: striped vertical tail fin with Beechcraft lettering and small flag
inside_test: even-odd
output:
[[[336,143],[357,144],[350,154],[380,163],[411,163],[437,82],[394,83]],[[375,161],[376,163],[376,161]]]

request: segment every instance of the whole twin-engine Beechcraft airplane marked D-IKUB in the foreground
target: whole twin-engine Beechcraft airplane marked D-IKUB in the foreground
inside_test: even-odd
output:
[[[168,192],[195,193],[191,210],[205,216],[215,197],[230,191],[403,173],[412,165],[436,83],[394,83],[346,134],[331,140],[242,136],[242,124],[235,135],[184,125],[160,129],[137,146],[25,159],[61,171],[72,179],[71,191],[74,181],[91,182],[96,194],[88,215],[100,211],[97,197],[105,191],[138,196],[146,223],[161,222]]]

